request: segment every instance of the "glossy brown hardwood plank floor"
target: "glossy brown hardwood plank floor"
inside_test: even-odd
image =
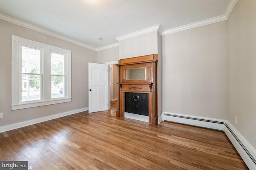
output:
[[[116,118],[116,104],[0,133],[0,160],[32,169],[248,169],[224,132]]]

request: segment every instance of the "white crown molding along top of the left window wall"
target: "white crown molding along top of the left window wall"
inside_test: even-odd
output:
[[[70,42],[70,43],[79,45],[79,46],[81,46],[81,47],[85,47],[85,48],[88,48],[88,49],[91,49],[91,50],[96,51],[96,48],[94,48],[94,47],[91,47],[91,46],[89,46],[89,45],[86,45],[86,44],[84,44],[84,43],[81,43],[81,42],[79,42],[79,41],[76,41],[76,40],[74,40],[74,39],[65,37],[65,36],[63,36],[63,35],[54,33],[54,32],[52,32],[52,31],[48,31],[48,30],[46,30],[46,29],[43,29],[43,28],[41,28],[41,27],[32,25],[32,24],[30,24],[30,23],[26,23],[26,22],[24,22],[24,21],[20,21],[20,20],[17,20],[17,19],[15,19],[15,18],[12,18],[12,17],[10,17],[10,16],[6,16],[6,15],[1,14],[1,13],[0,13],[0,19],[5,20],[5,21],[8,21],[8,22],[10,22],[10,23],[14,23],[14,24],[16,24],[16,25],[20,25],[20,26],[22,26],[22,27],[26,27],[26,28],[32,29],[32,30],[34,30],[34,31],[38,31],[38,32],[40,32],[40,33],[44,33],[44,34],[46,34],[46,35],[50,35],[50,36],[55,37],[55,38],[58,38],[58,39],[62,39],[62,40],[64,40],[64,41],[68,41],[68,42]]]

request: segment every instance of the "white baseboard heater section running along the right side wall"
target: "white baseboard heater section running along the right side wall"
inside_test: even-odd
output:
[[[244,138],[244,136],[229,122],[226,122],[224,132],[236,148],[245,164],[250,170],[256,170],[256,149]]]

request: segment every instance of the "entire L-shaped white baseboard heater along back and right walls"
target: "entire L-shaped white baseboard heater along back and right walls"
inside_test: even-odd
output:
[[[256,149],[227,120],[162,112],[162,121],[224,131],[250,170],[256,170]]]

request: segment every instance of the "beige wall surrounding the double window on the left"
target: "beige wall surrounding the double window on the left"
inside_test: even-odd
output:
[[[12,35],[72,51],[72,102],[11,110]],[[0,127],[88,107],[88,62],[96,63],[96,51],[0,20]]]

